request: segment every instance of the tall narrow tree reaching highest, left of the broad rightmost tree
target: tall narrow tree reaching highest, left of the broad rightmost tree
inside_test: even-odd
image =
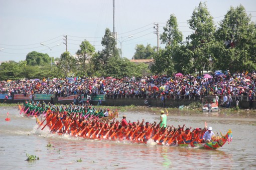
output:
[[[194,33],[187,37],[188,48],[193,52],[194,68],[201,74],[204,69],[210,69],[209,59],[211,55],[209,47],[215,31],[213,17],[210,15],[205,2],[200,2],[195,7],[188,23],[190,29],[194,30]]]

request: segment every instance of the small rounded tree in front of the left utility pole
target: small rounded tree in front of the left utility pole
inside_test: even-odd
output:
[[[59,62],[57,63],[57,67],[65,77],[69,76],[71,73],[73,73],[76,67],[75,58],[70,55],[68,51],[63,52],[60,56]]]

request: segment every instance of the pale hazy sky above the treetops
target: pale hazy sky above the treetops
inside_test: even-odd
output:
[[[115,0],[115,31],[122,56],[132,59],[137,44],[157,46],[154,24],[162,33],[171,14],[177,17],[185,40],[193,33],[187,20],[200,1],[205,0]],[[206,1],[215,25],[230,6],[239,4],[255,22],[256,0]],[[113,31],[113,0],[0,0],[0,61],[25,60],[32,51],[60,57],[66,51],[63,35],[71,54],[83,40],[99,51],[106,28]],[[165,45],[159,42],[159,47]]]

